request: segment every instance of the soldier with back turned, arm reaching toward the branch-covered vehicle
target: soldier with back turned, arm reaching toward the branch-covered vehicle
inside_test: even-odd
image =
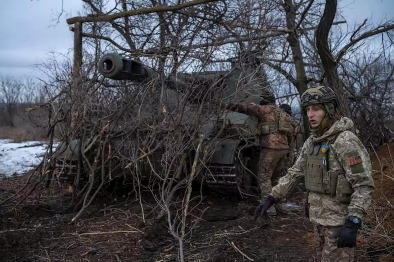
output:
[[[255,116],[258,120],[256,135],[260,140],[260,160],[257,178],[261,197],[265,199],[281,175],[289,148],[287,134],[291,131],[291,119],[275,104],[275,96],[268,89],[264,89],[260,105],[221,102],[220,106]],[[275,215],[275,207],[270,207],[268,212]]]

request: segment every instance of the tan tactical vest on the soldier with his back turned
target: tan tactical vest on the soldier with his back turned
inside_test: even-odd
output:
[[[291,118],[288,114],[275,110],[275,121],[262,122],[257,125],[256,135],[268,135],[269,133],[288,134],[292,131]]]

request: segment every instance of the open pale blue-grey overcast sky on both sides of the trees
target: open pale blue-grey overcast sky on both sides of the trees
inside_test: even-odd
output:
[[[383,16],[393,19],[393,0],[342,0],[343,15],[349,24]],[[72,48],[72,35],[65,19],[76,15],[80,0],[64,0],[64,13],[56,24],[61,0],[2,1],[0,9],[0,75],[40,77],[31,64],[46,59],[48,51],[66,53]],[[391,13],[391,14],[390,14]],[[56,26],[53,26],[56,24]]]

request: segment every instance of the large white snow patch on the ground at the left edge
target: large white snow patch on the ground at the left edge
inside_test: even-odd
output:
[[[11,177],[32,170],[42,161],[45,150],[43,141],[15,143],[10,139],[0,139],[0,175]]]

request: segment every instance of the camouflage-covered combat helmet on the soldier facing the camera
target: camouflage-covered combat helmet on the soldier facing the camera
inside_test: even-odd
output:
[[[329,118],[334,120],[335,111],[339,107],[338,96],[331,87],[317,85],[301,95],[300,106],[305,109],[309,105],[323,105]]]

